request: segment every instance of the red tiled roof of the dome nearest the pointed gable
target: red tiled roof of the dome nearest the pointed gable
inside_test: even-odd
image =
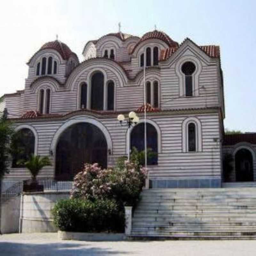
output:
[[[130,54],[132,54],[135,50],[135,48],[141,43],[144,42],[148,39],[160,39],[162,41],[164,41],[170,48],[171,47],[178,47],[179,44],[175,41],[173,41],[171,39],[171,37],[169,37],[167,34],[165,34],[162,31],[158,31],[158,30],[154,30],[154,31],[150,31],[146,34],[144,34],[141,38],[140,41],[133,47],[132,51],[130,52]]]

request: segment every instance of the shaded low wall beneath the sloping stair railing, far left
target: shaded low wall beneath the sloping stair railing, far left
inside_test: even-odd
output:
[[[2,234],[18,233],[20,219],[20,196],[14,196],[1,205]]]

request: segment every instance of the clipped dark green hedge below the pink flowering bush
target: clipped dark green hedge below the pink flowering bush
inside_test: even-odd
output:
[[[63,231],[124,232],[124,211],[120,211],[115,200],[60,200],[52,215],[56,227]]]

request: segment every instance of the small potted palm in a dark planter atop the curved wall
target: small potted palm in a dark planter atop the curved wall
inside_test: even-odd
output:
[[[24,192],[44,191],[44,186],[38,184],[36,176],[44,166],[48,165],[52,165],[48,156],[31,155],[29,157],[28,161],[24,163],[24,166],[31,173],[31,181],[29,183],[27,181],[24,182]]]

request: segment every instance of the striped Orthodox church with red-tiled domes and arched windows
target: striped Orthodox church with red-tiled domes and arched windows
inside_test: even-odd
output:
[[[219,46],[178,43],[158,30],[119,31],[88,41],[82,54],[79,62],[60,40],[45,43],[27,62],[24,90],[0,98],[22,149],[4,182],[30,178],[17,162],[30,154],[52,161],[39,179],[65,181],[84,162],[111,167],[131,148],[144,150],[145,108],[147,147],[156,153],[148,159],[150,188],[256,180],[256,134],[224,135]],[[131,111],[138,123],[121,125],[117,116],[127,120]],[[227,155],[233,169],[224,175]]]

